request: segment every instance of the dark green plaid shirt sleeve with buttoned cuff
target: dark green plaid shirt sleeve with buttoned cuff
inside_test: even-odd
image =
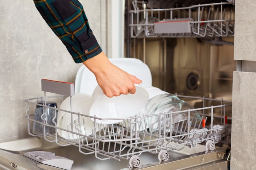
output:
[[[78,0],[34,0],[34,3],[75,63],[86,61],[102,52]]]

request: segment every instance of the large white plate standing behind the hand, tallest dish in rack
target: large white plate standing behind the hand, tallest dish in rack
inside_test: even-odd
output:
[[[113,58],[109,59],[111,63],[136,76],[142,80],[141,85],[152,85],[152,76],[148,66],[139,59],[135,58]],[[80,89],[76,93],[86,93],[92,95],[95,87],[98,85],[94,74],[86,67],[82,73]]]

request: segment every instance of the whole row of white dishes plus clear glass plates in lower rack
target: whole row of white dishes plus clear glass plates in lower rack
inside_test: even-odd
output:
[[[140,121],[146,115],[180,111],[182,105],[188,105],[186,102],[178,99],[178,97],[168,95],[169,93],[166,91],[153,87],[150,69],[139,59],[115,58],[110,59],[110,61],[120,69],[142,80],[140,85],[136,85],[136,93],[134,95],[120,95],[112,98],[106,97],[102,89],[98,86],[94,74],[83,65],[77,72],[75,82],[76,94],[72,97],[72,111],[80,113],[83,116],[78,117],[78,115],[72,114],[71,120],[70,113],[59,111],[57,127],[70,131],[72,131],[71,128],[73,127],[74,132],[90,135],[93,133],[92,130],[94,127],[96,127],[96,132],[98,132],[100,127],[102,128],[107,124],[121,122],[124,123],[124,127],[129,126],[128,121],[122,122],[126,120],[122,118],[138,115],[140,116],[138,121]],[[173,101],[174,98],[177,99]],[[70,108],[70,97],[68,97],[60,105],[60,109],[70,111]],[[95,120],[92,117],[97,117],[96,124],[94,124]],[[177,117],[177,119],[180,118]],[[150,128],[151,125],[156,125],[157,127],[158,121],[158,117],[156,116],[143,119],[140,130]],[[78,138],[78,135],[64,130],[58,129],[57,132],[63,138]]]

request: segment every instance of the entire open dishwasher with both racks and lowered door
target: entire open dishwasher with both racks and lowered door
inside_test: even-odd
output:
[[[55,101],[60,105],[70,96],[72,108],[74,84],[42,80],[44,96],[24,100],[27,105],[24,116],[32,137],[2,142],[0,169],[228,169],[232,102],[229,96],[220,97],[223,93],[216,88],[221,89],[223,84],[214,86],[215,80],[230,81],[228,71],[207,67],[207,62],[210,65],[219,62],[214,57],[204,58],[204,62],[200,63],[202,67],[198,69],[184,67],[186,62],[191,65],[197,62],[185,57],[177,61],[174,55],[177,56],[177,50],[186,52],[184,46],[190,44],[192,48],[193,44],[203,44],[213,51],[219,48],[218,45],[232,47],[234,2],[213,0],[211,4],[191,3],[195,2],[127,1],[125,42],[126,57],[141,59],[149,65],[154,86],[188,101],[195,109],[118,118],[122,121],[114,124],[96,123],[97,120],[109,119],[90,117],[71,109],[65,112],[70,114],[71,120],[78,118],[78,121],[74,125],[71,123],[70,129],[64,129],[57,127],[56,122],[58,112],[63,110],[46,105],[46,101]],[[196,48],[203,53],[202,48]],[[150,57],[147,54],[150,49],[160,51],[160,57]],[[193,55],[185,52],[184,56]],[[179,63],[180,60],[182,62]],[[52,84],[45,85],[44,81]],[[224,86],[227,84],[224,83]],[[48,95],[49,92],[51,95]],[[35,119],[37,106],[43,108],[46,121],[43,117],[43,122]],[[54,111],[50,119],[47,119],[47,109]],[[194,111],[200,115],[199,118],[191,116]],[[173,121],[173,115],[180,113],[186,115],[186,119]],[[157,117],[158,121],[148,128],[148,119],[153,117]],[[88,118],[94,122],[92,128],[86,129],[81,125]],[[34,123],[40,124],[44,130],[39,134],[33,132]],[[58,130],[65,131],[68,137],[60,136]]]

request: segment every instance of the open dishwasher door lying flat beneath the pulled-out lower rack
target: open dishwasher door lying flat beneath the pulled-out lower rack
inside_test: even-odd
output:
[[[42,164],[34,161],[26,156],[23,152],[28,150],[44,150],[44,152],[53,152],[57,156],[66,157],[74,160],[72,170],[98,170],[104,168],[105,170],[134,170],[134,169],[148,169],[155,170],[161,168],[162,170],[177,170],[177,169],[204,169],[210,166],[217,167],[217,169],[228,169],[230,164],[230,150],[228,148],[217,148],[214,151],[204,151],[204,145],[198,145],[196,148],[184,148],[182,151],[168,151],[170,156],[167,161],[159,161],[158,156],[151,153],[144,153],[140,155],[142,165],[139,168],[131,168],[128,166],[129,160],[116,161],[108,159],[104,161],[98,160],[95,156],[84,155],[77,150],[76,146],[59,147],[46,140],[40,138],[23,139],[26,142],[38,141],[41,144],[39,148],[30,148],[27,146],[20,146],[20,149],[27,148],[27,150],[18,150],[10,152],[0,150],[0,169],[1,170],[61,170],[54,166]],[[21,141],[21,140],[20,140]],[[6,144],[21,143],[19,140],[5,142],[1,144],[2,148]],[[114,147],[114,144],[111,146]],[[219,168],[218,168],[219,167]],[[64,168],[64,167],[63,167]],[[66,168],[64,168],[66,169]]]

